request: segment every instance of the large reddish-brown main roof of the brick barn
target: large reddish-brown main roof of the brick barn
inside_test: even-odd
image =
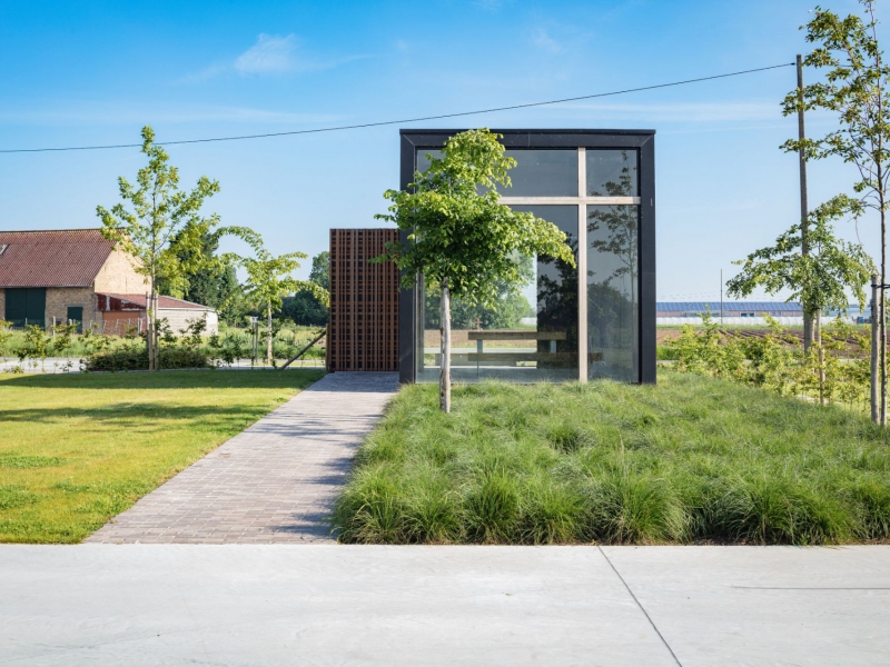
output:
[[[111,253],[98,229],[0,231],[0,287],[90,287]]]

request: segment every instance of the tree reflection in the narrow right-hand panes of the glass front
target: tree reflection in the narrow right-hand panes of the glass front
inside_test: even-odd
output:
[[[632,197],[633,168],[627,151],[622,151],[624,167],[617,182],[604,185],[605,192],[592,192],[594,197]],[[633,334],[636,331],[636,282],[639,276],[639,225],[635,206],[595,206],[587,213],[590,247],[601,253],[601,261],[590,261],[587,276],[587,317],[594,323],[599,341],[591,347],[631,348],[634,359],[636,349]],[[596,280],[597,268],[603,279]],[[617,323],[619,330],[615,330]],[[630,327],[630,328],[629,328]],[[591,331],[593,335],[594,331]],[[615,340],[617,334],[617,340]],[[635,366],[635,364],[634,364]]]

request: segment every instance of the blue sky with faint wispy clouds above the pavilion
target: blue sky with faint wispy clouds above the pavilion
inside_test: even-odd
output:
[[[0,148],[132,143],[310,129],[591,94],[791,62],[815,0],[708,2],[0,3]],[[838,12],[857,10],[832,1]],[[814,76],[808,72],[810,79]],[[651,128],[659,297],[716,298],[720,270],[799,215],[785,68],[720,81],[414,127]],[[815,136],[833,128],[808,119]],[[405,126],[412,127],[412,126]],[[398,127],[170,147],[185,183],[277,252],[315,255],[330,227],[378,225],[398,185]],[[0,229],[95,227],[136,149],[0,155]],[[850,191],[810,167],[811,206]],[[872,220],[842,235],[879,252]],[[235,245],[231,246],[235,249]],[[308,265],[304,275],[308,273]]]

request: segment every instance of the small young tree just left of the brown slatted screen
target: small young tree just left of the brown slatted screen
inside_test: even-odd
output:
[[[271,315],[281,308],[283,297],[297,290],[307,290],[324,303],[328,302],[328,292],[312,280],[297,280],[291,276],[299,268],[299,259],[305,252],[289,252],[275,257],[263,245],[263,238],[253,232],[245,240],[254,250],[255,257],[224,256],[227,261],[241,266],[247,271],[245,296],[266,313],[266,364],[273,362],[273,326]]]

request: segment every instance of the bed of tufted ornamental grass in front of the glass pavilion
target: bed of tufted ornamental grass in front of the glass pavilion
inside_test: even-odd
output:
[[[890,538],[890,434],[670,370],[657,386],[404,388],[335,526],[373,544],[848,544]]]

